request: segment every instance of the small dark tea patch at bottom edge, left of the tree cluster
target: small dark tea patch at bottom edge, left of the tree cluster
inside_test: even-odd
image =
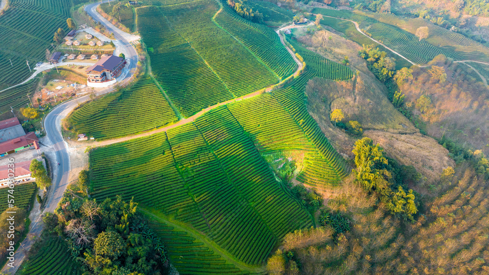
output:
[[[81,275],[81,266],[73,261],[64,239],[49,236],[44,246],[22,265],[20,275]]]

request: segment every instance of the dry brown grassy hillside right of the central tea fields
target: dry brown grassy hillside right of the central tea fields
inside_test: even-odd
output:
[[[310,50],[337,62],[347,55],[351,69],[358,70],[350,81],[314,78],[306,86],[309,113],[340,154],[353,158],[352,149],[358,137],[333,126],[330,115],[334,109],[342,110],[343,122],[360,122],[364,136],[380,143],[389,157],[401,164],[413,165],[429,182],[437,179],[447,166],[453,166],[443,146],[433,138],[419,134],[414,125],[394,108],[387,99],[385,86],[367,69],[365,60],[357,56],[357,44],[327,30],[316,31],[313,35],[302,34],[296,37]],[[323,36],[332,39],[324,40]]]

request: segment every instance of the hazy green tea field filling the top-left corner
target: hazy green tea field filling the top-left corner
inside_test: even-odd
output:
[[[44,61],[58,28],[68,30],[69,0],[11,0],[10,8],[0,17],[0,90],[22,82],[38,61]],[[28,19],[28,20],[26,20]],[[10,64],[12,61],[12,65]]]

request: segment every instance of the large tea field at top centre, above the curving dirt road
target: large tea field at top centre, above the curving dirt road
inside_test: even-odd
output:
[[[152,71],[186,117],[276,84],[296,69],[273,31],[219,10],[213,0],[137,9]]]

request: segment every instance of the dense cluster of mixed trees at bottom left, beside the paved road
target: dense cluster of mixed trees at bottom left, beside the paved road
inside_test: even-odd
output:
[[[65,193],[43,221],[46,230],[66,239],[84,274],[157,275],[168,267],[164,244],[133,200],[118,196],[97,203]]]

